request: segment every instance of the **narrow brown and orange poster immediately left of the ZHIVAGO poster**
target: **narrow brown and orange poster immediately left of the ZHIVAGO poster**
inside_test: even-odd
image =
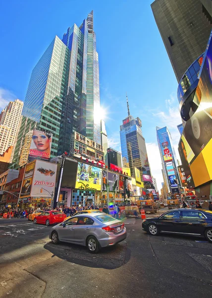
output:
[[[26,165],[24,179],[22,182],[20,198],[30,197],[31,189],[32,189],[32,179],[35,169],[35,162],[30,162]]]

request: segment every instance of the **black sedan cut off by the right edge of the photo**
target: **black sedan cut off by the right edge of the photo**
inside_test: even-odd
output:
[[[158,218],[144,220],[142,229],[152,235],[164,232],[204,236],[212,243],[212,213],[199,209],[175,209]]]

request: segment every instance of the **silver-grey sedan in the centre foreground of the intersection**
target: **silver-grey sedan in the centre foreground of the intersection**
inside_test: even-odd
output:
[[[115,245],[126,238],[122,221],[103,213],[88,213],[71,217],[50,231],[53,244],[59,241],[87,246],[88,251],[97,253],[101,247]]]

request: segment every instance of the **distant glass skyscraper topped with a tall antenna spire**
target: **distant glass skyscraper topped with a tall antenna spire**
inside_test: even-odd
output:
[[[123,167],[129,167],[131,175],[135,177],[135,167],[140,170],[145,188],[153,188],[151,169],[147,156],[145,139],[142,135],[142,123],[139,117],[130,115],[127,98],[128,116],[120,125],[120,140]]]

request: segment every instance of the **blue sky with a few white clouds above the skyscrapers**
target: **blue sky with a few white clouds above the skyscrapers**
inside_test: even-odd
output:
[[[177,80],[156,25],[153,0],[3,1],[0,9],[0,109],[24,100],[32,69],[54,36],[82,23],[94,10],[100,62],[101,105],[107,109],[109,145],[120,150],[119,126],[127,116],[142,120],[152,174],[161,188],[156,126],[167,126],[175,146],[180,123]],[[177,151],[177,150],[176,150]]]

